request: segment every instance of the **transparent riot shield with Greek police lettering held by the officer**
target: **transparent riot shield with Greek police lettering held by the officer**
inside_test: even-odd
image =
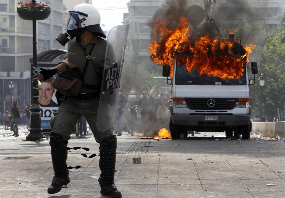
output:
[[[129,22],[125,25],[113,27],[107,37],[105,65],[97,116],[97,129],[99,131],[106,131],[113,127],[128,31]]]

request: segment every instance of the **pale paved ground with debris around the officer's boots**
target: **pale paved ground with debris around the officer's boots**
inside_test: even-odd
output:
[[[98,154],[99,144],[92,136],[69,140],[68,147],[90,150],[68,152],[67,164],[82,168],[72,169],[67,187],[51,195],[47,193],[53,177],[49,140],[26,142],[27,129],[22,126],[19,131],[15,139],[3,137],[9,131],[0,129],[1,198],[106,197],[97,181],[99,157],[81,155]],[[158,142],[127,132],[117,140],[115,184],[123,197],[285,197],[285,142],[281,140]],[[148,147],[142,150],[141,145]],[[189,156],[192,160],[187,160]],[[142,163],[134,164],[133,157],[141,157]]]

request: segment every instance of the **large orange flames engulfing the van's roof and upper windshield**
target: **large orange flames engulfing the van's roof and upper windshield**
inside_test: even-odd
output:
[[[155,39],[148,46],[151,59],[156,64],[169,64],[172,78],[175,57],[180,66],[186,63],[188,72],[195,66],[199,76],[241,78],[243,64],[248,64],[249,54],[255,49],[255,45],[243,48],[238,43],[220,41],[219,37],[212,39],[209,35],[194,42],[188,37],[190,29],[184,17],[180,17],[180,23],[174,30],[166,27],[162,19],[158,19],[152,23],[152,31],[152,38]],[[232,28],[231,31],[235,30]]]

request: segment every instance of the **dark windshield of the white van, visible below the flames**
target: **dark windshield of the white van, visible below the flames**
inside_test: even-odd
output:
[[[246,65],[243,64],[243,76],[241,78],[221,79],[217,76],[199,76],[196,67],[191,72],[186,70],[186,64],[179,66],[176,63],[175,84],[178,85],[245,85],[246,84]]]

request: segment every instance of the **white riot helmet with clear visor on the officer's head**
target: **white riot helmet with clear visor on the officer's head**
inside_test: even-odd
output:
[[[72,10],[68,11],[69,15],[66,20],[66,30],[84,28],[96,33],[99,37],[106,38],[100,27],[100,13],[95,6],[81,3],[76,5]]]

